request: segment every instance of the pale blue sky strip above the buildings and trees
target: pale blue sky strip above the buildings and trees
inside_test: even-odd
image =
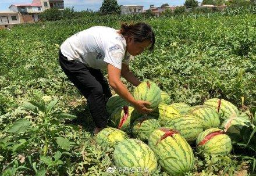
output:
[[[9,6],[12,3],[31,3],[32,0],[0,0],[0,10],[8,10]],[[98,10],[101,7],[103,0],[64,0],[65,7],[71,8],[74,6],[74,9],[77,11],[80,10]],[[182,5],[185,0],[118,0],[119,5],[144,5],[144,9],[148,9],[150,4],[155,6],[161,6],[163,3],[169,3],[169,5]]]

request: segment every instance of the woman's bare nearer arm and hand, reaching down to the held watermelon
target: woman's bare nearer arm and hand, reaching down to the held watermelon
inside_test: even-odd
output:
[[[127,102],[131,103],[135,107],[136,110],[140,113],[150,113],[151,109],[148,109],[146,106],[150,105],[149,102],[143,100],[135,100],[133,96],[130,94],[128,89],[123,85],[123,82],[120,80],[121,70],[112,66],[112,64],[108,64],[108,80],[109,85],[115,90],[115,92],[120,95],[122,98],[127,100]]]

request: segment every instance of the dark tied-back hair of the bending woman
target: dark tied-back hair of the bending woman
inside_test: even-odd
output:
[[[151,42],[150,50],[154,49],[155,34],[150,25],[146,23],[123,23],[121,25],[120,34],[124,37],[131,37],[136,42],[144,42],[148,40]]]

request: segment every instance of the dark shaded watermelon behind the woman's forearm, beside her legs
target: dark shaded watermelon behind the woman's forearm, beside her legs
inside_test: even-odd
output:
[[[118,94],[115,94],[108,99],[108,102],[106,102],[106,111],[108,114],[112,114],[116,108],[125,105],[129,106],[129,103],[126,102],[125,99],[121,98]]]

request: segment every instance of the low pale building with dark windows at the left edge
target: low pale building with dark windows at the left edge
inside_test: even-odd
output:
[[[13,12],[10,10],[0,11],[0,26],[10,25],[10,24],[20,24],[21,15],[19,12]]]

